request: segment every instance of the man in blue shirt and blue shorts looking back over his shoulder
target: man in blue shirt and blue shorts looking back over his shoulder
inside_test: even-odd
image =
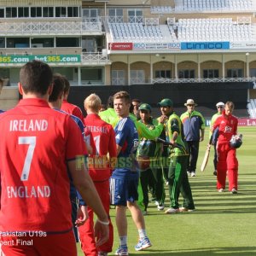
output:
[[[143,212],[137,206],[137,186],[139,174],[135,154],[138,145],[137,129],[129,118],[131,98],[126,91],[119,91],[113,96],[113,107],[119,116],[119,123],[114,128],[118,154],[118,163],[110,178],[111,203],[116,206],[116,225],[119,234],[119,248],[115,255],[128,255],[126,207],[137,226],[139,241],[137,251],[151,247],[148,239]]]

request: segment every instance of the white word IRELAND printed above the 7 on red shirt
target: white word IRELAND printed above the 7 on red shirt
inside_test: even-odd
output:
[[[45,119],[10,120],[9,131],[46,131],[48,121]]]

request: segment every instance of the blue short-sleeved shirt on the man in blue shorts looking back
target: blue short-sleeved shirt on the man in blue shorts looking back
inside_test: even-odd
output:
[[[129,117],[120,119],[114,128],[115,142],[121,147],[118,155],[118,163],[113,175],[129,175],[130,172],[137,172],[135,153],[138,146],[137,129]]]

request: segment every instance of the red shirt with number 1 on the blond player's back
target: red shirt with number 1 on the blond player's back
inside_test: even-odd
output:
[[[117,156],[113,127],[95,113],[88,114],[84,123],[85,137],[92,148],[88,159],[90,177],[93,181],[108,180],[111,172],[109,164],[114,164]]]

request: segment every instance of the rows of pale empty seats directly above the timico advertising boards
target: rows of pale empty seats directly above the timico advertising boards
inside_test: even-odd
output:
[[[256,41],[256,27],[250,20],[231,18],[179,19],[166,25],[143,23],[109,23],[113,42],[200,42],[200,41]]]

